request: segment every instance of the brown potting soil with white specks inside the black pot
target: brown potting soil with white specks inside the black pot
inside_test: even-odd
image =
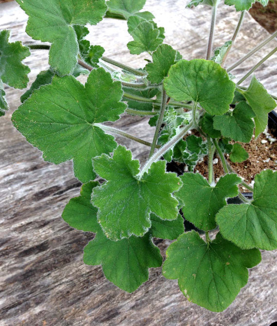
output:
[[[273,136],[272,136],[273,137]],[[250,143],[243,144],[242,147],[247,151],[249,157],[246,161],[242,163],[233,163],[228,159],[228,155],[225,154],[227,162],[230,164],[235,173],[242,176],[246,183],[251,183],[254,180],[255,174],[261,172],[264,169],[277,170],[277,142],[270,145],[270,142],[262,144],[261,140],[266,139],[264,134],[260,134],[257,139],[252,139]],[[266,139],[267,140],[267,139]],[[218,158],[218,163],[213,165],[215,178],[219,178],[224,175],[223,166],[221,164],[220,158]],[[269,162],[264,162],[268,160]],[[208,157],[205,157],[203,162],[196,165],[195,170],[198,170],[204,177],[208,179]],[[243,192],[249,192],[247,189],[241,188]]]

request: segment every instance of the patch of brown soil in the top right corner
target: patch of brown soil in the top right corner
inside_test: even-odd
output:
[[[269,0],[266,7],[255,2],[249,13],[269,33],[274,33],[277,30],[277,0]]]

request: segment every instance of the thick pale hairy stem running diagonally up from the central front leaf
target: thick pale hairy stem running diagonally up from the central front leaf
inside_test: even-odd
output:
[[[151,167],[152,163],[156,162],[163,154],[165,154],[169,149],[171,149],[180,139],[182,139],[187,132],[193,128],[193,121],[180,129],[178,135],[171,138],[166,144],[164,144],[160,149],[154,153],[144,164],[143,168],[138,174],[138,179],[140,179],[145,172]]]

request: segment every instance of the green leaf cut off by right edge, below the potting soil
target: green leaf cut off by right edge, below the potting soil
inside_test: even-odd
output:
[[[216,221],[223,237],[242,249],[276,249],[277,172],[256,174],[253,202],[223,207]]]

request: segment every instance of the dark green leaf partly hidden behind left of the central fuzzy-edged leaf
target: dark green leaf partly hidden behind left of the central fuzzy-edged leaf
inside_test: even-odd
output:
[[[92,189],[99,183],[90,181],[81,188],[80,196],[71,198],[65,206],[62,218],[75,229],[99,232],[101,226],[97,222],[97,208],[90,203]]]

